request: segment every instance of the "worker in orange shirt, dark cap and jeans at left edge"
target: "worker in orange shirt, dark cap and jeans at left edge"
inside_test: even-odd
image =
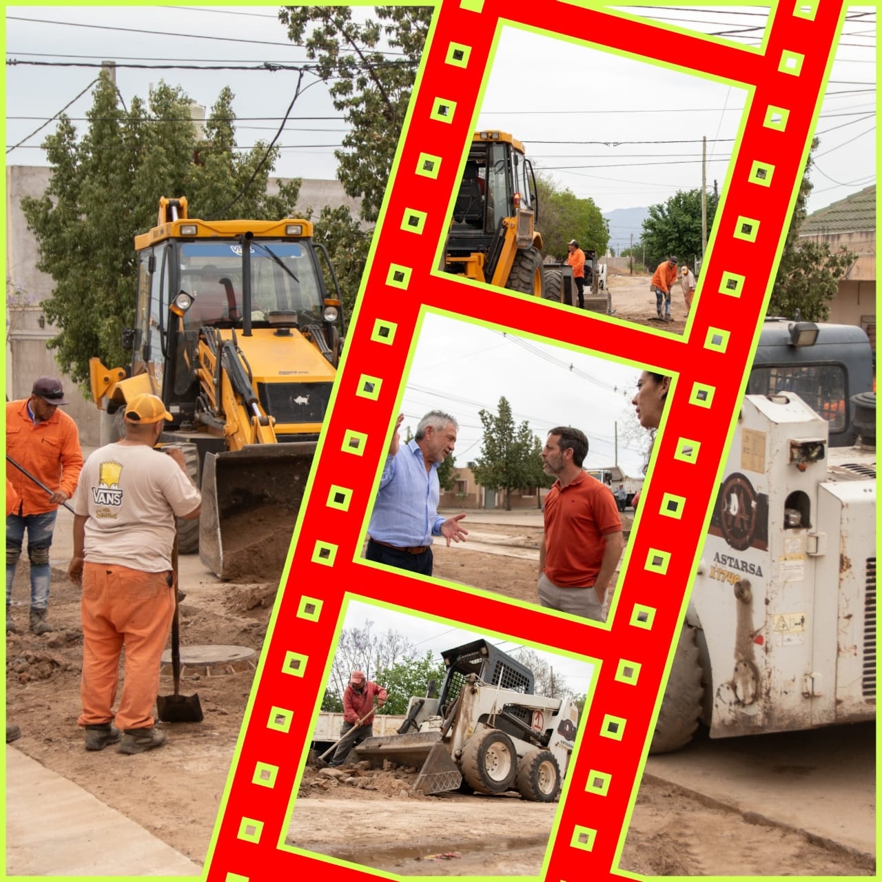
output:
[[[30,398],[6,403],[6,453],[46,488],[6,464],[6,479],[19,496],[19,504],[6,513],[7,631],[16,630],[10,616],[12,580],[25,533],[31,564],[31,631],[45,634],[52,630],[46,621],[52,532],[58,506],[73,496],[83,467],[77,424],[58,409],[67,403],[56,377],[39,377]]]

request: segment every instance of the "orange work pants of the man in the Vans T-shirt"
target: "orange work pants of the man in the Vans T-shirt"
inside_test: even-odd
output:
[[[117,564],[83,566],[83,677],[80,726],[110,722],[125,647],[118,729],[153,726],[162,649],[175,614],[171,572],[141,572]]]

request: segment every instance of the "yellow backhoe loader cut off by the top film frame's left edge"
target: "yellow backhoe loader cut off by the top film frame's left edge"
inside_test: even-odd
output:
[[[505,131],[472,138],[453,204],[444,269],[522,294],[542,296],[542,235],[533,167]]]

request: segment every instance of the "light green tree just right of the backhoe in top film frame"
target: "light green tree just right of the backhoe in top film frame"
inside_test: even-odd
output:
[[[565,259],[566,243],[571,239],[576,239],[583,250],[594,249],[599,255],[606,253],[609,223],[594,199],[578,198],[570,190],[561,190],[551,177],[542,173],[536,175],[536,189],[539,198],[536,228],[542,232],[546,253]]]

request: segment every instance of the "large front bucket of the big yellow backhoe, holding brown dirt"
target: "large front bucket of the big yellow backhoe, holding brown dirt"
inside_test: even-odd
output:
[[[315,452],[295,441],[206,453],[199,558],[215,575],[280,580]]]

